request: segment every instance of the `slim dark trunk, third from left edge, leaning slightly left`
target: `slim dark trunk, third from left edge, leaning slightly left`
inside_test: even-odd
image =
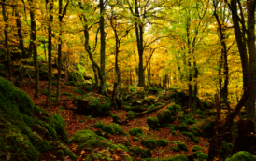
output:
[[[35,66],[35,75],[36,75],[36,89],[34,97],[37,99],[39,97],[39,68],[38,68],[38,61],[37,61],[37,49],[36,49],[36,21],[35,21],[35,14],[34,14],[34,7],[32,5],[32,0],[30,0],[30,20],[31,20],[31,36],[32,36],[32,46],[33,46],[33,59],[34,59],[34,66]]]

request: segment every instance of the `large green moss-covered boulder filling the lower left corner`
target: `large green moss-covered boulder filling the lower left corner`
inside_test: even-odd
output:
[[[0,152],[4,160],[35,160],[51,151],[56,153],[61,142],[67,142],[65,125],[60,115],[50,116],[35,106],[27,93],[0,77]],[[64,155],[75,159],[68,149]]]

